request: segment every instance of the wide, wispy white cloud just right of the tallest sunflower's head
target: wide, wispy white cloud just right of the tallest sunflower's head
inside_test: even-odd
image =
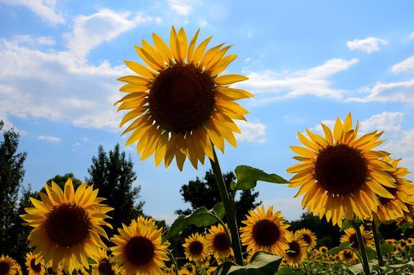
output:
[[[341,99],[344,91],[331,88],[329,78],[344,70],[348,70],[350,66],[357,63],[358,60],[356,58],[352,60],[334,58],[320,66],[300,70],[296,73],[286,71],[276,73],[273,70],[250,72],[247,74],[249,80],[237,86],[247,88],[255,93],[278,94],[278,96],[272,99],[294,98],[306,94]]]

